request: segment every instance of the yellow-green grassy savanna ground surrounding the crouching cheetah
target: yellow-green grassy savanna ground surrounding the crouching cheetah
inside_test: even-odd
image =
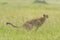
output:
[[[29,32],[22,24],[32,18],[48,14],[49,18],[38,29]],[[6,22],[21,28],[16,29]],[[34,3],[0,3],[0,40],[60,40],[60,5]]]

